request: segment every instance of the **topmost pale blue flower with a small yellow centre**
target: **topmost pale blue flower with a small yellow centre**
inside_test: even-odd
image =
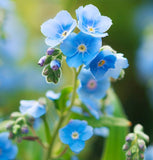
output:
[[[78,28],[94,37],[105,37],[108,34],[106,32],[112,25],[112,20],[106,16],[101,16],[97,7],[93,5],[87,5],[79,7],[76,10],[78,19]]]

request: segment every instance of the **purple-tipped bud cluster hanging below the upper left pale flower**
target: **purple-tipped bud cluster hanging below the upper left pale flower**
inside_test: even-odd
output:
[[[41,57],[38,64],[43,67],[43,76],[46,77],[47,82],[57,83],[61,75],[61,61],[62,54],[60,49],[48,48],[46,55]]]

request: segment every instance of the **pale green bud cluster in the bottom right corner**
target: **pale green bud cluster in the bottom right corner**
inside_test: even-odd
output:
[[[149,142],[149,137],[143,132],[143,126],[136,125],[134,133],[129,133],[125,140],[123,150],[126,151],[126,160],[144,160],[146,142]]]

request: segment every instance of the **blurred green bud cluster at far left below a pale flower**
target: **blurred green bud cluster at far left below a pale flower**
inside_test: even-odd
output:
[[[33,125],[34,118],[29,115],[22,115],[20,112],[13,112],[10,119],[6,125],[6,129],[9,131],[9,138],[21,142],[22,136],[29,133],[29,126]]]

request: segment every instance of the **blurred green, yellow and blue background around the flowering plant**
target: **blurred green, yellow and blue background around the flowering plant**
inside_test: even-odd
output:
[[[37,65],[47,49],[40,25],[63,9],[76,18],[75,9],[90,3],[113,21],[103,45],[129,60],[125,78],[113,83],[115,91],[128,119],[133,125],[141,123],[153,142],[152,0],[0,0],[0,119],[18,111],[21,99],[38,99],[57,88],[46,83]],[[72,81],[70,72],[64,85]],[[97,138],[88,159],[98,160],[102,142]],[[19,157],[30,159],[32,152],[21,150]],[[39,154],[36,159],[41,159]]]

